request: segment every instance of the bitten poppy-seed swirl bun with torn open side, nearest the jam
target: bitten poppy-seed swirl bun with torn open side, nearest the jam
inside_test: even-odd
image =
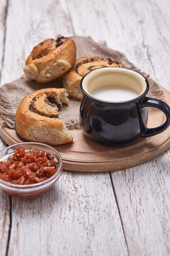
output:
[[[27,95],[18,106],[15,130],[26,141],[58,146],[73,141],[73,135],[59,119],[58,108],[68,105],[66,89],[46,88]]]

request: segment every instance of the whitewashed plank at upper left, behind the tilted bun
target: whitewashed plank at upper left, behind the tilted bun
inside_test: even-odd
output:
[[[9,1],[1,84],[24,74],[33,47],[47,38],[73,35],[64,1]]]

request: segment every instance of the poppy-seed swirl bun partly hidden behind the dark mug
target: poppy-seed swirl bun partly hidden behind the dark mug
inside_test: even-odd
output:
[[[68,97],[81,101],[82,91],[80,89],[80,80],[82,76],[100,67],[126,67],[119,61],[111,58],[102,57],[83,57],[78,58],[71,70],[62,76],[62,85],[68,93]]]

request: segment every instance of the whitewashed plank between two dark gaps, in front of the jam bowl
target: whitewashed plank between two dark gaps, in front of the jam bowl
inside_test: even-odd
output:
[[[9,255],[128,255],[108,173],[64,171],[47,195],[13,199]]]

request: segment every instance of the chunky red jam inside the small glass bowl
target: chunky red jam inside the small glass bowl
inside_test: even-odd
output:
[[[0,161],[0,179],[19,185],[35,184],[53,176],[58,166],[50,153],[16,148],[7,162]]]

